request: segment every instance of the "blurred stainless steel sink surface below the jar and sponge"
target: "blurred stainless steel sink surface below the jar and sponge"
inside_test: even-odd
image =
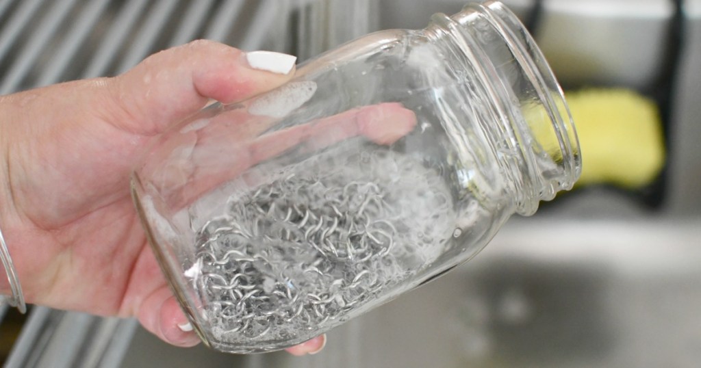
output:
[[[516,219],[472,261],[334,329],[318,355],[181,350],[141,331],[123,366],[697,367],[699,225]]]

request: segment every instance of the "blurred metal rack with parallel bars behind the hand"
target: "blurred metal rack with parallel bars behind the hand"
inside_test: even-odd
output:
[[[0,95],[121,74],[147,55],[194,39],[303,59],[369,32],[372,3],[0,0]],[[329,14],[345,22],[320,21]],[[0,321],[6,311],[0,308]],[[135,329],[135,320],[35,306],[5,366],[118,367]]]

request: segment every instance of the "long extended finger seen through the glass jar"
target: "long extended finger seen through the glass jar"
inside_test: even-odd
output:
[[[191,142],[193,146],[189,146],[186,158],[191,162],[164,168],[172,172],[163,175],[179,175],[178,182],[186,183],[173,186],[175,190],[171,193],[179,196],[171,198],[175,207],[180,208],[235,179],[253,165],[280,156],[295,146],[304,145],[305,149],[315,151],[359,135],[376,144],[388,145],[407,135],[415,125],[414,111],[399,103],[384,103],[271,132],[249,142],[241,142],[240,137],[226,133],[212,135],[198,139],[196,145]]]

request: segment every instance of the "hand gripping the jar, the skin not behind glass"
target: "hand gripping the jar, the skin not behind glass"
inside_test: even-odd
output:
[[[210,100],[245,100],[293,74],[252,69],[239,50],[196,41],[121,76],[0,97],[0,228],[27,302],[135,316],[169,343],[198,343],[178,327],[187,320],[147,245],[130,172],[143,146]]]

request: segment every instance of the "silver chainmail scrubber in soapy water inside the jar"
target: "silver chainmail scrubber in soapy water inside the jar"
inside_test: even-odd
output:
[[[402,168],[409,172],[418,164],[404,165],[411,165]],[[396,183],[348,177],[288,175],[237,198],[224,216],[203,226],[198,282],[209,301],[207,317],[223,339],[294,336],[342,318],[414,271],[402,264],[416,257],[407,246],[416,242],[407,218],[428,222],[431,211],[448,212],[444,193],[407,186],[425,196],[418,203],[423,218],[407,210],[411,196]]]

